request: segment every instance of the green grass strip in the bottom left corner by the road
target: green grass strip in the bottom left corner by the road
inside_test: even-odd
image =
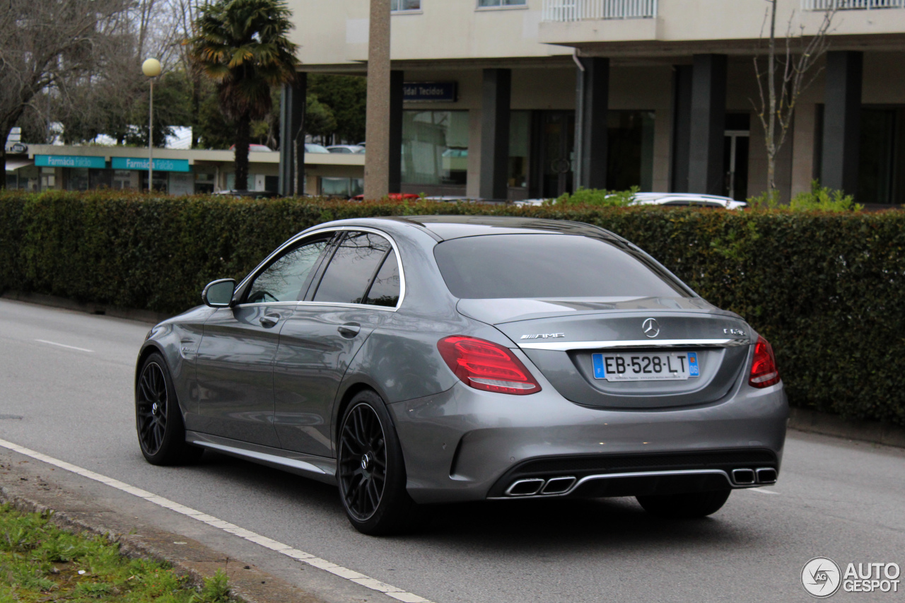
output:
[[[154,560],[129,559],[119,544],[73,534],[50,522],[50,513],[0,506],[0,603],[52,601],[124,603],[225,603],[229,585],[220,570],[195,589]]]

